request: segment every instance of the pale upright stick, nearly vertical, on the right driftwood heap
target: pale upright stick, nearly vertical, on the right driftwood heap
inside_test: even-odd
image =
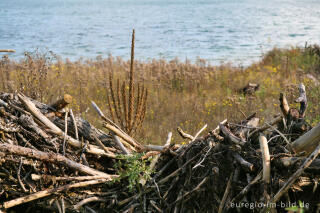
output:
[[[262,165],[263,165],[263,175],[262,180],[265,184],[270,183],[270,153],[268,147],[267,138],[260,134],[259,137],[260,149],[262,153]]]

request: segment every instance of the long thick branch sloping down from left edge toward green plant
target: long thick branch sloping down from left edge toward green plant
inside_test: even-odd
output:
[[[77,171],[83,172],[88,175],[99,175],[103,176],[104,178],[111,180],[113,178],[112,175],[106,174],[104,172],[100,172],[98,170],[92,169],[90,167],[84,166],[80,163],[74,162],[60,154],[54,154],[54,153],[46,153],[30,148],[25,148],[22,146],[16,146],[11,145],[7,143],[0,144],[0,151],[13,154],[13,155],[19,155],[19,156],[25,156],[33,159],[37,159],[40,161],[46,161],[50,163],[58,163],[65,166],[68,166],[72,169],[75,169]]]

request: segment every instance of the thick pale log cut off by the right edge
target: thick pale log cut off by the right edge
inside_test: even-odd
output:
[[[292,143],[295,152],[311,153],[320,143],[320,123]]]

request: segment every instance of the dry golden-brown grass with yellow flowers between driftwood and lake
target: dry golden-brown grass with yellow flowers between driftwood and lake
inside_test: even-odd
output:
[[[315,124],[320,121],[320,87],[310,75],[320,76],[320,63],[314,49],[274,49],[260,63],[247,68],[211,66],[201,59],[195,63],[177,59],[136,61],[134,84],[144,84],[149,91],[145,121],[136,137],[146,143],[163,143],[167,133],[176,132],[178,126],[194,134],[205,123],[214,128],[225,118],[237,121],[253,112],[258,112],[262,122],[269,120],[280,112],[279,93],[285,92],[293,103],[299,82],[307,86],[307,118]],[[109,76],[128,81],[130,61],[109,56],[71,62],[50,53],[28,54],[20,61],[4,57],[0,61],[0,91],[21,91],[46,103],[69,93],[74,97],[73,110],[96,124],[91,100],[112,117],[107,105]],[[260,84],[253,96],[238,92],[248,82]],[[129,86],[122,86],[121,90],[130,94]],[[118,89],[115,93],[121,96]],[[177,141],[179,136],[174,137]]]

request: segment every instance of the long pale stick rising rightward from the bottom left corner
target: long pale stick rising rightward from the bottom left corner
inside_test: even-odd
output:
[[[23,204],[23,203],[28,203],[33,200],[47,197],[53,193],[62,192],[62,191],[72,189],[72,188],[91,186],[91,185],[105,183],[105,182],[108,182],[108,180],[107,179],[98,179],[98,180],[90,180],[90,181],[84,181],[84,182],[79,182],[79,183],[67,184],[67,185],[60,186],[58,188],[53,188],[53,189],[46,189],[43,191],[33,193],[31,195],[19,197],[19,198],[4,202],[3,207],[5,209],[8,209],[8,208],[11,208],[11,207]]]

